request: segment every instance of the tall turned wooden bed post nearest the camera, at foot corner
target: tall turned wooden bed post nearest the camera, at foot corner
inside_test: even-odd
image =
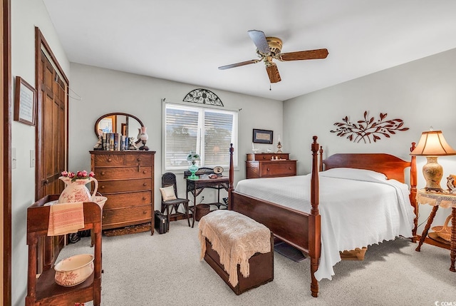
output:
[[[311,178],[311,215],[309,215],[309,256],[311,257],[311,292],[313,297],[318,297],[318,281],[315,272],[318,269],[318,260],[321,253],[321,217],[318,213],[319,186],[318,186],[318,143],[314,136],[312,151],[312,178]]]

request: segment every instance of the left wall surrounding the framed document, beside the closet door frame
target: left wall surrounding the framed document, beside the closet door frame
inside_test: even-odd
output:
[[[38,26],[69,78],[70,63],[57,39],[56,31],[42,1],[11,1],[11,73],[35,85],[35,26]],[[14,89],[14,87],[13,87]],[[14,92],[14,91],[13,91]],[[13,121],[11,147],[16,148],[17,167],[12,170],[12,305],[24,305],[27,289],[28,247],[27,208],[35,202],[35,168],[30,167],[30,151],[35,149],[35,127]]]

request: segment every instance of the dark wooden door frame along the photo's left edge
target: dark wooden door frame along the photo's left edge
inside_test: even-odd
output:
[[[1,305],[11,305],[11,0],[1,0],[1,16],[3,31],[3,49],[1,50],[1,103],[3,105],[3,163],[0,170],[3,173],[1,184],[2,214],[2,282],[1,290],[3,299]]]

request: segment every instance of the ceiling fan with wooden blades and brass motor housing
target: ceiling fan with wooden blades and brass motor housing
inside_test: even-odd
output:
[[[264,64],[266,65],[266,72],[269,76],[269,81],[271,81],[271,83],[277,83],[281,81],[281,78],[276,63],[272,61],[273,58],[278,61],[301,61],[304,59],[326,58],[326,56],[328,56],[328,49],[281,53],[281,39],[277,37],[266,37],[262,31],[257,30],[250,30],[248,33],[250,39],[252,39],[255,46],[257,46],[257,56],[259,59],[252,59],[250,61],[242,61],[240,63],[232,63],[231,65],[220,66],[220,70],[264,61]]]

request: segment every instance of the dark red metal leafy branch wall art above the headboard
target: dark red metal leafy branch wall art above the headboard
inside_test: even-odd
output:
[[[363,120],[359,120],[356,123],[352,123],[348,120],[348,116],[342,118],[343,122],[336,122],[334,126],[337,126],[335,131],[331,133],[337,133],[337,136],[346,137],[353,143],[375,143],[380,141],[381,136],[390,138],[390,135],[394,135],[397,131],[407,131],[408,128],[404,128],[404,121],[402,119],[386,120],[387,113],[380,113],[380,118],[375,120],[374,117],[368,117],[368,111],[364,112]]]

